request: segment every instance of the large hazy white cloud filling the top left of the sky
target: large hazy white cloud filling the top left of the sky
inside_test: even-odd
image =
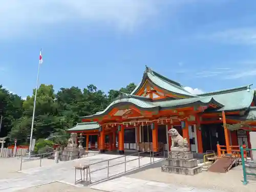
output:
[[[68,22],[103,22],[132,30],[157,15],[163,2],[167,3],[154,0],[0,0],[0,34],[11,36]]]

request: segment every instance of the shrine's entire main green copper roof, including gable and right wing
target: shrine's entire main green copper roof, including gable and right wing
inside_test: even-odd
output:
[[[187,96],[183,99],[166,98],[161,100],[153,100],[151,98],[135,95],[143,86],[144,82],[148,80],[156,86],[165,89],[174,94]],[[178,109],[186,106],[208,106],[209,104],[217,105],[217,109],[209,108],[205,113],[218,111],[239,111],[247,110],[251,105],[254,97],[254,90],[250,86],[243,86],[228,90],[217,92],[204,93],[200,95],[193,95],[182,87],[178,82],[170,80],[146,67],[143,79],[139,86],[131,94],[121,93],[121,95],[113,101],[104,111],[97,112],[94,115],[81,118],[94,118],[107,115],[113,108],[130,109],[131,105],[142,111],[159,111],[162,109]]]

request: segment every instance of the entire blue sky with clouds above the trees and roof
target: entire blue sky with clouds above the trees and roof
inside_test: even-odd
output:
[[[254,83],[256,1],[0,0],[0,83],[98,89],[139,83],[145,65],[191,92]]]

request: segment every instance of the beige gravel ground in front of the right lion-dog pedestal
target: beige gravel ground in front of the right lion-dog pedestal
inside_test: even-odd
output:
[[[212,172],[202,172],[195,176],[185,176],[161,172],[161,168],[146,169],[126,177],[172,183],[180,186],[193,186],[204,189],[214,189],[227,192],[255,192],[256,182],[249,180],[247,185],[243,185],[242,166],[237,166],[229,170],[228,173],[219,174]]]

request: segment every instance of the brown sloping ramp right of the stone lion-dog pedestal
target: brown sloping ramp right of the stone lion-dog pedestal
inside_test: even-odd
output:
[[[231,169],[236,161],[237,160],[231,156],[219,158],[209,167],[208,171],[215,173],[226,173],[229,169]]]

